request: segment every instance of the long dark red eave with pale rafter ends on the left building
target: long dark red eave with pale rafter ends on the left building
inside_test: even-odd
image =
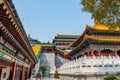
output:
[[[17,40],[19,45],[21,45],[21,48],[25,49],[25,55],[29,58],[29,60],[33,64],[37,63],[37,60],[33,54],[33,51],[27,39],[26,33],[22,27],[22,24],[20,24],[20,20],[18,19],[18,16],[16,16],[16,13],[14,12],[15,9],[11,7],[11,4],[8,2],[8,0],[0,0],[0,6],[3,6],[2,12],[6,11],[6,13],[4,12],[3,14],[5,15],[5,17],[7,16],[6,19],[1,18],[4,19],[4,22],[2,21],[2,23],[4,23],[5,26],[9,24],[9,27],[7,27],[9,32]],[[11,26],[12,30],[15,31],[14,33],[13,31],[10,30]],[[15,36],[15,34],[18,35]]]

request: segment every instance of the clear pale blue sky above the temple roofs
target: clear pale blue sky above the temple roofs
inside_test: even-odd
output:
[[[57,34],[82,34],[93,26],[91,15],[82,12],[80,0],[13,0],[27,34],[52,42]]]

